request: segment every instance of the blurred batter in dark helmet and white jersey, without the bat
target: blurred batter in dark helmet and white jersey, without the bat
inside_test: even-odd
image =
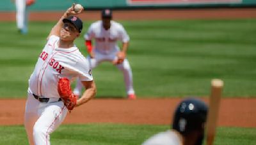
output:
[[[160,132],[142,145],[202,145],[208,107],[198,99],[185,99],[176,107],[172,130]]]

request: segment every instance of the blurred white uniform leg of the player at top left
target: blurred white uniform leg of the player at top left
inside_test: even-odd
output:
[[[28,32],[28,8],[26,0],[16,0],[16,23],[20,32],[26,34]]]

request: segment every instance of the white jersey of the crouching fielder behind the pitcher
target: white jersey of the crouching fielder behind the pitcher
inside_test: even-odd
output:
[[[106,30],[102,25],[102,20],[94,22],[90,25],[88,32],[84,34],[84,39],[92,40],[95,39],[95,50],[102,54],[109,54],[111,52],[119,51],[116,41],[120,40],[123,43],[129,41],[129,36],[125,31],[124,27],[111,20],[111,27]]]

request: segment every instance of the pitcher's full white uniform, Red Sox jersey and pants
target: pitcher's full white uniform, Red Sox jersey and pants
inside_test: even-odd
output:
[[[58,36],[51,36],[36,62],[29,79],[24,125],[29,143],[50,144],[49,134],[56,130],[67,115],[67,107],[60,100],[58,80],[92,81],[88,61],[76,46],[59,48]],[[40,102],[34,96],[49,98]]]

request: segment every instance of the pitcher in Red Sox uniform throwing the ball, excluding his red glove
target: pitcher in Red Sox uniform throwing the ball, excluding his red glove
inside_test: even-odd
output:
[[[95,83],[88,62],[74,45],[83,28],[83,22],[78,17],[70,16],[77,13],[73,5],[52,28],[30,76],[24,117],[29,144],[50,144],[49,135],[63,122],[68,109],[80,106],[95,96]],[[86,90],[70,107],[59,94],[59,79],[76,77]],[[64,91],[68,92],[65,87]]]

